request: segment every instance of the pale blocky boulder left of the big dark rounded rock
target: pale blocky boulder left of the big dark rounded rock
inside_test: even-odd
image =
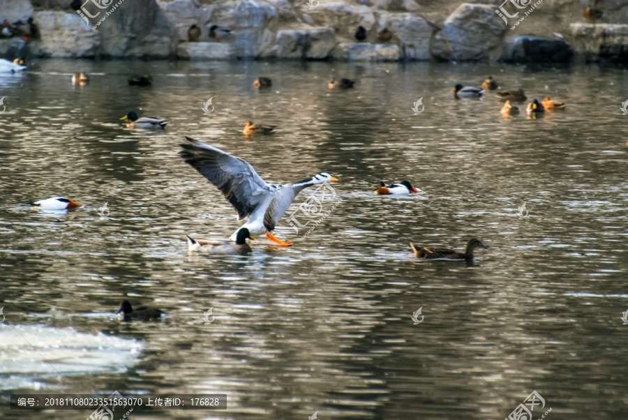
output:
[[[87,27],[76,13],[36,12],[33,15],[39,27],[40,57],[96,57],[100,33]]]

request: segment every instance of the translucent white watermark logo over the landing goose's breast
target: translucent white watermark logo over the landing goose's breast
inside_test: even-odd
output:
[[[303,229],[309,225],[308,231],[301,237],[301,239],[305,239],[308,234],[311,234],[311,232],[338,207],[338,204],[343,202],[343,200],[340,199],[329,208],[329,204],[326,205],[325,202],[329,202],[335,198],[336,190],[334,190],[334,187],[332,187],[330,183],[326,181],[320,184],[318,188],[308,195],[306,200],[290,214],[287,220],[288,225],[292,226],[297,235],[299,234],[299,229]],[[324,207],[326,206],[328,210],[324,211]],[[317,219],[318,217],[320,218]],[[307,222],[303,223],[304,220],[307,220]],[[310,223],[312,223],[312,225],[310,225]]]

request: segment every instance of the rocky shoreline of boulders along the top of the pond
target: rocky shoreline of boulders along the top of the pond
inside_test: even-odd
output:
[[[588,22],[560,0],[0,0],[40,36],[0,39],[0,54],[53,58],[341,61],[628,61],[628,0]],[[74,5],[75,6],[75,5]],[[626,21],[626,22],[625,22]],[[188,29],[200,29],[197,42]],[[209,31],[225,28],[225,36]],[[358,27],[365,30],[357,41]],[[387,31],[389,37],[381,36]],[[387,39],[389,38],[389,39]],[[385,39],[385,40],[384,40]]]

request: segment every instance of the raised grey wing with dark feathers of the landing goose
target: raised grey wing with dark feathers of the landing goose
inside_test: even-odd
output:
[[[251,216],[260,203],[273,195],[271,186],[246,160],[190,137],[186,139],[191,144],[181,144],[183,150],[179,154],[186,163],[218,187],[237,211],[238,220]]]

